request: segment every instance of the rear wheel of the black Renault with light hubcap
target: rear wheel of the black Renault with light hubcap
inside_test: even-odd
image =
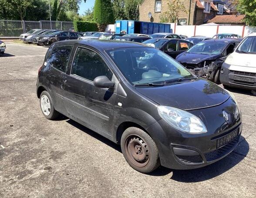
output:
[[[44,117],[49,120],[53,120],[60,115],[60,113],[54,109],[53,100],[48,91],[43,91],[40,94],[40,108]]]

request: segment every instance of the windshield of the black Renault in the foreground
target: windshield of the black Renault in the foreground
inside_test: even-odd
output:
[[[194,76],[164,52],[150,47],[108,50],[125,78],[132,84],[164,84]],[[195,77],[194,77],[195,78]]]

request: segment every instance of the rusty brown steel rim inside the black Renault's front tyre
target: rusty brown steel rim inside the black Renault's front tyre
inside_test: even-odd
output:
[[[126,138],[125,152],[135,166],[144,167],[148,164],[150,153],[147,144],[140,136],[131,135]]]

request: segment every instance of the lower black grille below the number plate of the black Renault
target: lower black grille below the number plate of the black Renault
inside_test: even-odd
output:
[[[204,155],[205,155],[206,160],[213,161],[215,159],[218,159],[218,158],[226,155],[230,151],[232,151],[232,149],[234,149],[234,147],[238,144],[239,137],[240,136],[237,136],[236,139],[234,139],[230,143],[226,144],[225,146],[220,147],[219,149],[205,153]]]

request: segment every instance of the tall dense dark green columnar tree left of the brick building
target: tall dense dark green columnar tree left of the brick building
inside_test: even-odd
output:
[[[111,0],[95,0],[94,21],[100,31],[104,31],[108,24],[114,23]]]

